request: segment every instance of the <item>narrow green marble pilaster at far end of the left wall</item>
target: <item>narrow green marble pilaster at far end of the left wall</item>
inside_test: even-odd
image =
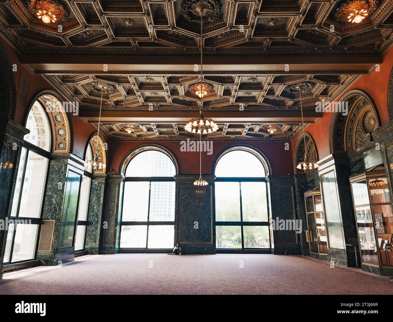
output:
[[[87,217],[88,226],[86,227],[86,242],[84,246],[88,254],[98,254],[106,176],[93,175],[92,177]]]

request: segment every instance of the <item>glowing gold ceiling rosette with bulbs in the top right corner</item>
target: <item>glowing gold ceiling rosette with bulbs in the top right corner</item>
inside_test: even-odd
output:
[[[335,17],[342,22],[359,24],[376,9],[377,0],[352,0],[336,9]]]

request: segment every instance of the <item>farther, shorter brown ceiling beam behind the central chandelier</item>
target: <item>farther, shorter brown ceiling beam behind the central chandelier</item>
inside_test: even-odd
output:
[[[303,111],[304,120],[307,122],[315,122],[321,118],[323,113],[315,111]],[[79,111],[79,116],[85,121],[98,121],[99,111]],[[124,121],[124,122],[154,122],[167,121],[186,122],[191,118],[198,116],[198,111],[106,111],[101,112],[102,121]],[[244,121],[251,122],[285,122],[285,121],[301,121],[300,111],[206,111],[204,116],[212,118],[217,122]]]

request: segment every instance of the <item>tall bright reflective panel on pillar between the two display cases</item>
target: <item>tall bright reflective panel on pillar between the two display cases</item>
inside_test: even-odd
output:
[[[329,247],[345,249],[335,172],[321,175]]]

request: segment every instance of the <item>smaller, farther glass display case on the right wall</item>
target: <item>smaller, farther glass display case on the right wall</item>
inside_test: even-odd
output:
[[[327,236],[320,191],[306,191],[304,194],[307,217],[306,238],[310,254],[314,258],[327,259]]]

